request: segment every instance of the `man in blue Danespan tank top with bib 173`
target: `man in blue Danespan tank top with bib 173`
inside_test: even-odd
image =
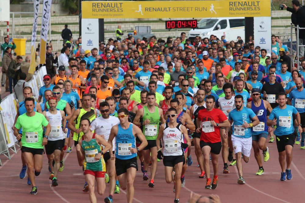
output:
[[[125,108],[117,111],[120,124],[111,128],[108,143],[112,145],[114,137],[116,152],[115,155],[110,150],[110,157],[115,159],[115,168],[120,186],[123,190],[127,189],[127,202],[131,203],[135,193],[133,182],[138,170],[137,152],[144,149],[147,145],[142,131],[138,126],[128,122],[128,110]],[[136,136],[142,142],[136,147]]]

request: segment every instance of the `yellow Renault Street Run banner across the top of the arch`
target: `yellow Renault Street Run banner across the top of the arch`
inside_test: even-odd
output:
[[[82,1],[82,18],[268,17],[270,0]]]

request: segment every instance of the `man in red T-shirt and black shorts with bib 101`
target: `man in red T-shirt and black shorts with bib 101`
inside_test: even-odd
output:
[[[206,172],[205,189],[216,189],[218,183],[218,155],[221,150],[220,127],[230,127],[228,118],[220,109],[214,109],[215,98],[212,95],[206,97],[206,109],[199,110],[196,119],[196,132],[200,135],[200,148],[203,153],[203,168]],[[213,164],[214,177],[210,179],[210,153]]]

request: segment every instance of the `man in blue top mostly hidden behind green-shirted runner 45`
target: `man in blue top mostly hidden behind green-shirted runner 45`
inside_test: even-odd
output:
[[[32,96],[33,96],[32,88],[31,87],[25,87],[23,89],[23,97],[24,97],[24,99],[26,99],[28,97],[32,97]],[[17,103],[16,107],[17,107],[17,114],[16,114],[15,121],[14,121],[14,124],[13,124],[13,127],[12,127],[13,130],[15,129],[15,124],[16,124],[18,116],[20,116],[22,114],[25,114],[27,112],[27,110],[25,109],[24,101]],[[38,113],[42,113],[41,112],[41,106],[37,102],[35,102],[35,104],[34,104],[34,111],[36,111]],[[19,134],[22,135],[22,128],[20,128]],[[21,148],[22,147],[21,139],[18,140],[18,141],[19,141],[19,145],[20,145],[20,148]],[[21,179],[23,179],[23,178],[25,178],[25,173],[27,171],[27,165],[26,165],[26,163],[24,161],[24,158],[22,156],[22,152],[21,152],[21,161],[22,161],[22,169],[20,171],[19,177]],[[31,184],[29,179],[27,180],[27,184],[28,185]]]

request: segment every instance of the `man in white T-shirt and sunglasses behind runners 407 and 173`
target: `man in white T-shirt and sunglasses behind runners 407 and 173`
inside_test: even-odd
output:
[[[102,116],[97,117],[92,121],[90,130],[94,131],[98,135],[103,135],[104,139],[108,142],[112,126],[119,124],[120,121],[117,117],[109,116],[110,106],[108,102],[101,102],[99,109]],[[113,139],[112,142],[113,145],[111,151],[114,153],[115,139]],[[110,159],[109,152],[104,154],[104,160],[106,162],[106,172],[109,175],[109,196],[105,198],[105,202],[112,202],[115,187],[115,160]]]

